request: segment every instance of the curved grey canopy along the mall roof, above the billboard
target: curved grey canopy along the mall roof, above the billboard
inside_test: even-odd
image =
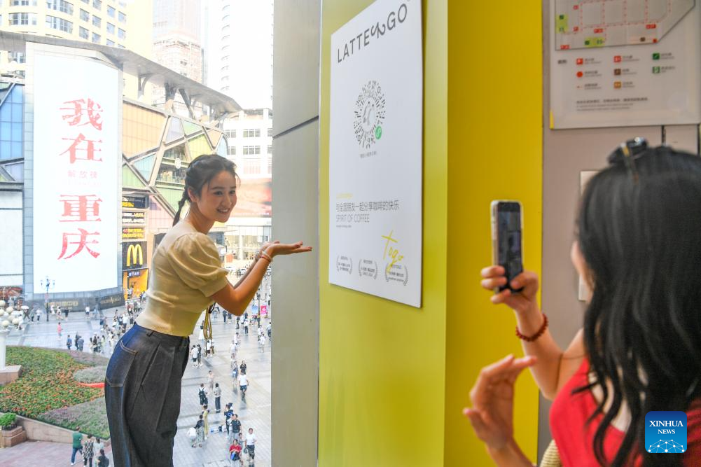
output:
[[[165,88],[166,100],[172,99],[175,97],[175,93],[179,93],[189,108],[196,102],[209,107],[212,112],[212,120],[222,119],[227,114],[233,114],[241,110],[240,105],[231,97],[125,48],[101,46],[96,43],[72,41],[58,37],[0,31],[0,50],[24,52],[27,42],[95,50],[107,57],[124,73],[136,76],[139,80],[139,94],[143,92],[147,82],[161,86]]]

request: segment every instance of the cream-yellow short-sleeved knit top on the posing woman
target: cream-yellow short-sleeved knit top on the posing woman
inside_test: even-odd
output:
[[[156,248],[151,261],[149,298],[136,318],[139,326],[173,336],[192,334],[212,295],[229,280],[211,238],[180,221]]]

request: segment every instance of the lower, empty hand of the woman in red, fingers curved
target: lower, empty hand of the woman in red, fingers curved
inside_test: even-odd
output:
[[[472,408],[463,409],[477,438],[489,449],[499,451],[513,442],[514,383],[526,367],[536,363],[533,356],[510,355],[482,368],[470,391]]]

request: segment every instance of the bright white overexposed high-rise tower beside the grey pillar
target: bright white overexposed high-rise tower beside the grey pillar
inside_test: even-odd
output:
[[[235,98],[245,109],[272,108],[273,1],[203,4],[207,86]]]

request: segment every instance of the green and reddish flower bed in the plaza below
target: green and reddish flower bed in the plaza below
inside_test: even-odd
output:
[[[22,365],[22,377],[0,387],[0,412],[14,412],[64,428],[81,426],[83,432],[109,438],[102,390],[80,386],[73,377],[76,370],[106,365],[107,358],[76,351],[8,346],[6,361],[8,365]],[[83,405],[98,398],[103,401],[102,412],[95,410],[90,417],[102,417],[104,423],[95,421],[82,426],[76,417],[53,417],[55,410]],[[100,407],[97,402],[96,405]],[[92,432],[88,426],[102,428],[99,432]]]

